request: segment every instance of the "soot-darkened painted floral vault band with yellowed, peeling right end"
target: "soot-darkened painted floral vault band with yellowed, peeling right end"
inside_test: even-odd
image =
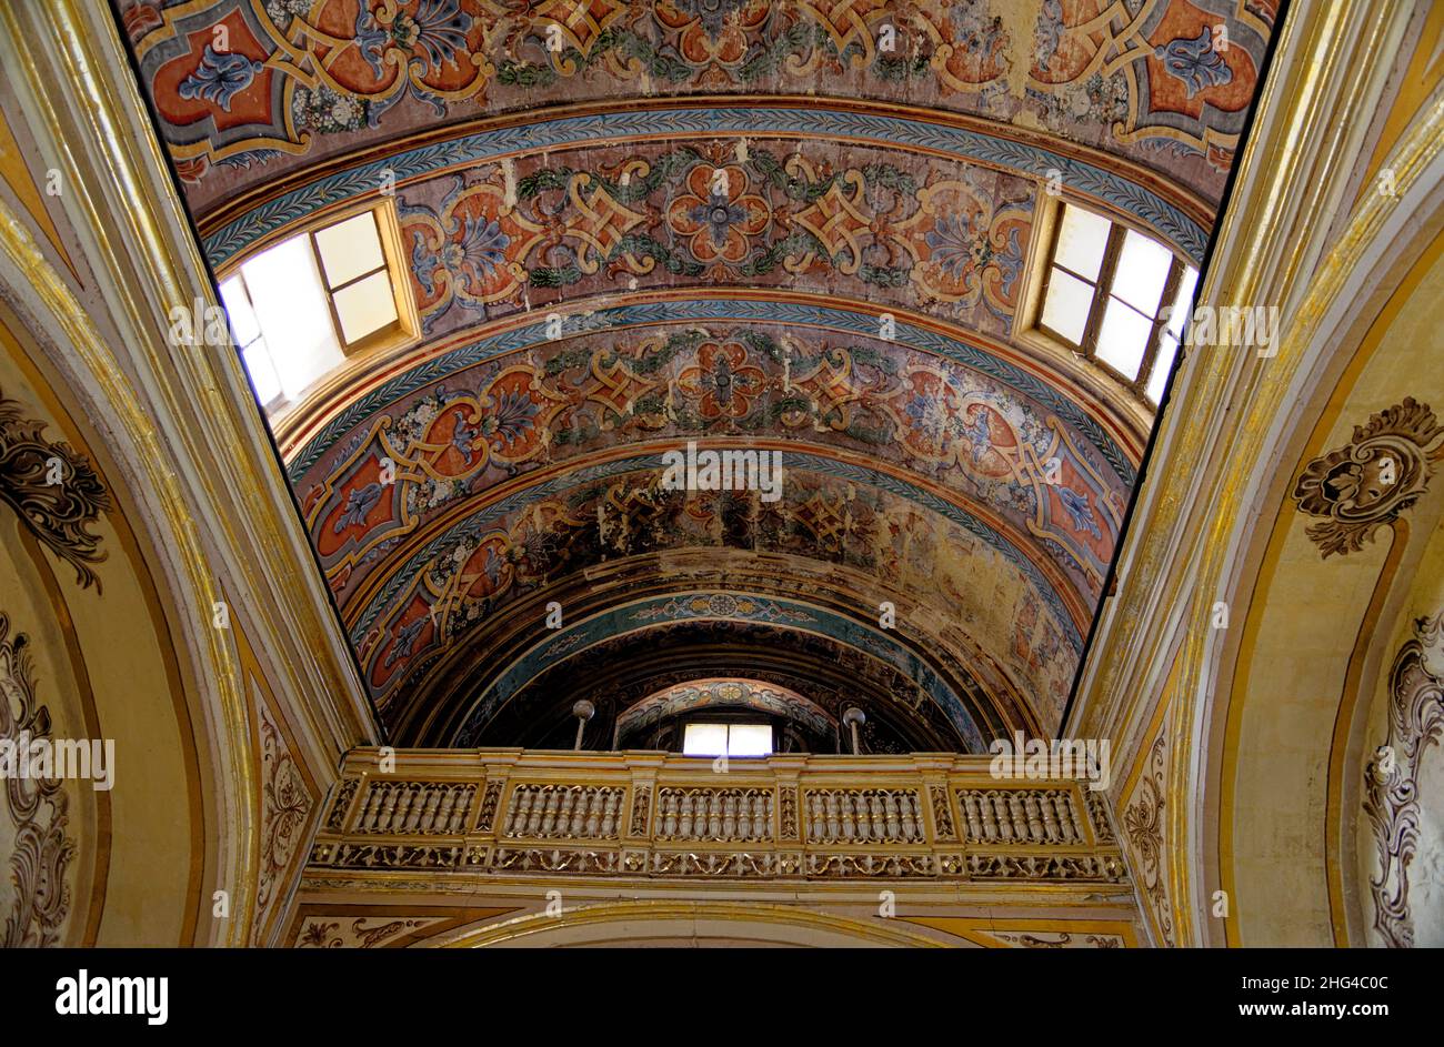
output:
[[[1012,579],[1006,586],[979,592],[976,570],[991,555],[956,524],[920,514],[894,494],[804,468],[788,469],[787,497],[768,513],[747,497],[697,498],[663,491],[658,482],[654,471],[580,482],[484,524],[479,539],[468,527],[443,539],[361,637],[367,679],[383,713],[414,672],[466,643],[513,601],[609,556],[699,540],[852,568],[914,588],[923,599],[946,601],[950,614],[965,608],[966,615],[996,617],[1009,630],[999,654],[1012,672],[1050,699],[1066,695],[1076,654],[1061,640],[1056,611],[1015,572],[1005,570]],[[738,601],[713,599],[721,602],[708,608],[710,614],[732,614],[728,601]],[[1025,621],[1025,628],[1014,633],[1015,621]]]

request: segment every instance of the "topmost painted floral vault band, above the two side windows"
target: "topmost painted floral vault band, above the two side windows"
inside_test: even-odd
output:
[[[237,147],[267,166],[290,166],[313,147],[308,131],[375,142],[430,118],[469,116],[477,105],[501,113],[588,92],[812,87],[924,100],[991,120],[1041,120],[1069,140],[1168,168],[1210,199],[1222,194],[1272,32],[1262,4],[1219,16],[1188,0],[1044,0],[1032,30],[1021,35],[992,0],[214,0],[165,10],[123,0],[121,9],[166,137],[196,178]],[[178,61],[178,40],[209,40],[222,20],[238,39],[237,19],[254,38],[254,53],[295,58],[271,66],[282,84],[267,98],[251,92],[271,113],[248,114],[247,134],[212,134],[196,124],[191,103],[201,98],[227,114],[250,82],[253,59],[237,55],[232,40],[230,55],[204,59],[199,46],[189,51],[185,72],[199,79],[166,66]],[[1214,45],[1217,25],[1227,51]],[[891,49],[881,46],[885,26],[894,30]],[[325,71],[323,85],[315,69]],[[354,100],[364,123],[319,120],[322,103],[334,108],[331,98],[315,97],[322,87]],[[297,110],[302,91],[313,97]],[[396,105],[409,107],[407,118],[387,124],[383,114]],[[310,117],[287,126],[284,116],[295,111]],[[198,199],[209,192],[198,191]]]

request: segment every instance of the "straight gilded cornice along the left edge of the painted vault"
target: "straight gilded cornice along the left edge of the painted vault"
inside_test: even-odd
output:
[[[274,456],[240,361],[227,352],[178,352],[165,341],[170,309],[189,309],[198,297],[211,302],[212,290],[142,100],[129,77],[118,75],[129,59],[108,12],[65,0],[10,6],[0,17],[12,46],[29,42],[16,56],[23,72],[17,87],[25,87],[32,123],[52,139],[56,166],[71,173],[69,192],[61,199],[79,235],[90,240],[98,259],[94,269],[114,277],[105,293],[116,323],[127,328],[124,342],[136,347],[129,370],[144,375],[143,396],[156,401],[150,416],[175,420],[169,432],[157,433],[165,453],[157,449],[147,461],[173,464],[179,452],[180,461],[196,464],[188,471],[189,482],[212,507],[201,516],[212,539],[235,550],[227,559],[232,576],[244,579],[244,592],[254,594],[248,612],[271,620],[270,631],[293,644],[297,656],[306,651],[306,657],[284,660],[295,672],[315,673],[297,682],[296,695],[339,699],[306,712],[312,731],[331,738],[332,755],[374,737],[371,712],[319,579],[299,572],[295,583],[277,588],[266,569],[279,550],[295,562],[306,562],[309,552],[289,491],[271,465]],[[118,230],[117,221],[123,222]],[[117,381],[114,375],[126,371],[111,365],[97,373]],[[212,462],[225,465],[202,465]],[[196,516],[193,504],[188,514]],[[256,549],[269,553],[260,556]],[[214,559],[196,566],[212,576],[209,586],[218,585]]]

